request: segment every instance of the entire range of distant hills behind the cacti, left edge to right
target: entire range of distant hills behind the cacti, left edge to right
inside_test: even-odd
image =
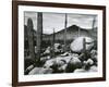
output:
[[[24,36],[25,40],[28,37],[28,30],[27,26],[24,25]],[[32,29],[32,33],[34,33],[34,41],[37,39],[37,32],[35,29]],[[73,39],[77,38],[78,36],[88,36],[93,38],[97,38],[97,27],[94,29],[86,29],[81,28],[80,26],[72,25],[66,27],[66,40],[72,41]],[[55,40],[56,41],[63,41],[64,38],[64,28],[60,32],[55,33]],[[44,41],[51,41],[52,40],[52,34],[43,34],[43,40]]]

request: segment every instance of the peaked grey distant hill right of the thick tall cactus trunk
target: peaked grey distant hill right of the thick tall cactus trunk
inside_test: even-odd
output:
[[[95,28],[95,29],[97,29],[97,28]],[[96,32],[94,33],[93,29],[81,28],[80,26],[76,26],[76,25],[66,27],[66,40],[73,40],[73,39],[77,38],[78,36],[92,37],[92,34],[95,35],[95,37],[96,37]],[[55,33],[55,40],[63,40],[63,38],[64,38],[64,29]],[[44,35],[43,39],[51,40],[52,34]]]

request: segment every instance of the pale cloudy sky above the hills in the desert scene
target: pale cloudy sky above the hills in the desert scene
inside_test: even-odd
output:
[[[97,27],[97,15],[90,14],[66,14],[66,27],[77,25],[81,28],[90,29],[95,18],[95,27]],[[37,12],[24,12],[24,24],[27,25],[28,18],[33,20],[34,29],[37,30]],[[44,34],[52,34],[64,28],[65,13],[43,13],[43,30]]]

